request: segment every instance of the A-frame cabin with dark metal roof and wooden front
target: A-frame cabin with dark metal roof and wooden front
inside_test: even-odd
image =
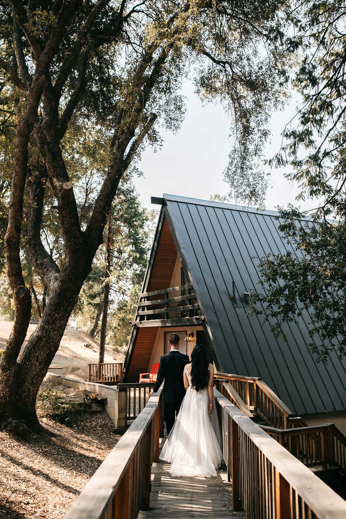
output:
[[[258,289],[255,258],[293,250],[280,236],[277,213],[172,195],[152,200],[162,207],[124,381],[138,382],[159,362],[174,331],[185,353],[202,342],[217,370],[261,377],[297,415],[333,419],[346,432],[346,362],[335,351],[327,365],[315,362],[308,312],[283,325],[287,343],[248,314]]]

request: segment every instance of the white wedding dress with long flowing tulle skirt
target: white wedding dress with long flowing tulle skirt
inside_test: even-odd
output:
[[[187,366],[185,372],[189,387],[160,459],[171,463],[170,473],[174,476],[216,476],[223,455],[215,403],[208,414],[207,388],[193,389]]]

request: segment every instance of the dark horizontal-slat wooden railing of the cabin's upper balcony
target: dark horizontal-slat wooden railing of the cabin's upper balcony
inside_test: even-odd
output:
[[[174,292],[181,292],[181,295],[170,297],[170,294]],[[153,299],[155,296],[161,297]],[[186,313],[187,317],[193,317],[200,307],[196,294],[193,292],[193,286],[182,285],[154,292],[143,292],[140,295],[139,308],[136,319],[142,317],[146,320],[147,316],[155,315],[158,319],[161,315],[164,316],[164,319],[169,319],[170,313],[175,313],[175,317],[177,317],[177,312],[181,313],[182,318]]]

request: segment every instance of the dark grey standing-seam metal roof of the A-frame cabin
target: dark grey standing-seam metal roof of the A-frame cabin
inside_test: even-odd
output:
[[[346,362],[336,352],[327,365],[315,362],[307,348],[308,312],[283,324],[287,343],[275,339],[260,316],[247,315],[244,292],[258,289],[259,281],[254,257],[294,250],[280,236],[278,213],[172,195],[164,201],[220,369],[261,377],[297,414],[343,411]]]

